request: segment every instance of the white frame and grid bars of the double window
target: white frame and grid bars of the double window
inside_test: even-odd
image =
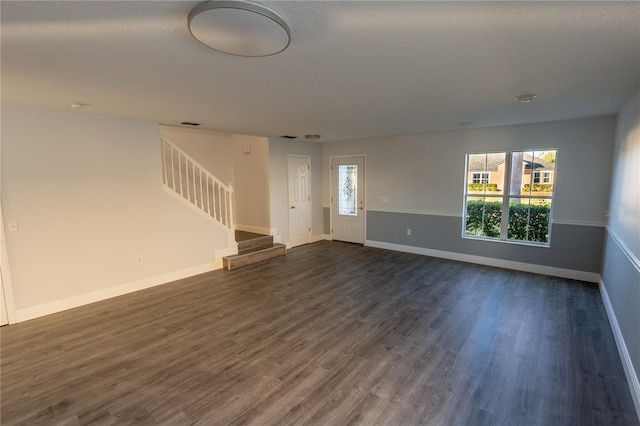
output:
[[[465,157],[465,182],[464,182],[464,195],[463,195],[463,210],[462,210],[462,238],[467,238],[467,239],[474,239],[474,240],[481,240],[481,241],[494,241],[494,242],[502,242],[502,243],[509,243],[509,244],[520,244],[520,245],[528,245],[528,246],[535,246],[535,247],[550,247],[551,246],[551,231],[552,231],[552,223],[553,223],[553,207],[555,205],[554,203],[554,197],[556,194],[555,188],[552,191],[552,195],[551,196],[537,196],[537,195],[531,195],[531,193],[526,196],[526,195],[519,195],[518,197],[512,197],[511,195],[511,171],[512,171],[512,158],[513,158],[513,154],[516,152],[522,152],[522,153],[528,153],[528,152],[544,152],[544,151],[555,151],[556,152],[556,164],[558,162],[557,158],[558,158],[558,149],[557,148],[546,148],[546,149],[514,149],[514,150],[505,150],[505,151],[485,151],[485,152],[470,152],[466,154]],[[504,169],[504,182],[503,182],[503,188],[504,191],[502,192],[502,211],[501,211],[501,223],[500,223],[500,237],[487,237],[487,236],[478,236],[478,235],[469,235],[466,233],[466,217],[467,217],[467,200],[470,197],[477,197],[478,195],[474,195],[474,194],[469,194],[468,192],[468,188],[469,188],[469,156],[471,155],[477,155],[477,154],[501,154],[504,153],[505,154],[505,169]],[[557,171],[557,169],[554,170],[554,172]],[[477,172],[472,172],[472,173],[477,173]],[[533,178],[534,175],[533,173],[540,173],[540,172],[534,172],[532,170],[532,175],[531,175],[531,185],[534,184],[533,182]],[[546,171],[544,172],[542,175],[539,175],[542,179],[544,179],[544,176],[546,176],[548,174],[548,178],[549,178],[549,183],[551,181],[551,172],[550,171]],[[473,174],[472,174],[473,176]],[[524,174],[523,174],[524,176]],[[473,181],[473,177],[472,177],[472,181]],[[554,180],[554,187],[555,187],[555,180]],[[500,198],[500,196],[492,196],[492,198]],[[520,198],[520,199],[529,199],[529,200],[535,200],[535,199],[548,199],[551,202],[551,208],[549,209],[549,238],[547,240],[547,242],[536,242],[536,241],[528,241],[528,240],[515,240],[515,239],[509,239],[508,235],[509,235],[509,204],[510,204],[510,199],[511,198]]]

